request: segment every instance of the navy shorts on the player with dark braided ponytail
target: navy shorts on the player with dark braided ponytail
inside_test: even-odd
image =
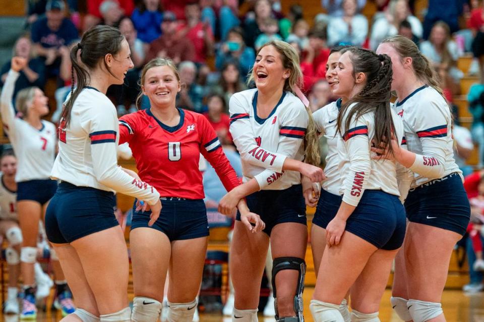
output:
[[[397,196],[382,190],[365,190],[346,221],[346,231],[379,249],[400,248],[405,238],[405,208]]]

